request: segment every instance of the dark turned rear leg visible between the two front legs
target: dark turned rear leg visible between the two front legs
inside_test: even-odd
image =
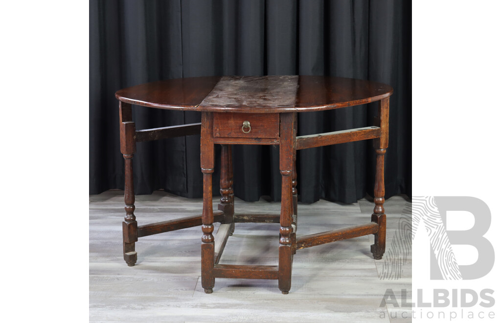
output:
[[[233,222],[234,195],[231,145],[221,145],[221,179],[219,181],[219,187],[221,202],[218,204],[217,209],[224,212],[224,221],[222,223],[231,223],[230,235],[232,235],[235,224]]]

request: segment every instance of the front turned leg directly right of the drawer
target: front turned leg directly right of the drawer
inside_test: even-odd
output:
[[[291,289],[292,275],[292,172],[294,154],[294,114],[280,115],[280,173],[282,174],[282,205],[280,211],[279,288],[283,294]]]

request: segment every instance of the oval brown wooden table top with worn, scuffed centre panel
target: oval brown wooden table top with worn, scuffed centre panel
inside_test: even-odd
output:
[[[391,86],[328,76],[184,78],[122,89],[115,97],[135,105],[190,111],[279,113],[330,110],[378,101]]]

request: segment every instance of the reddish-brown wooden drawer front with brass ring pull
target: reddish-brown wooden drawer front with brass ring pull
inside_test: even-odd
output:
[[[214,113],[214,137],[278,138],[279,130],[278,113]]]

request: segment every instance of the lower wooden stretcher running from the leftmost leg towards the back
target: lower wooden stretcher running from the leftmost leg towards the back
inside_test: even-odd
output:
[[[214,211],[214,222],[221,222],[223,220],[223,215],[222,211]],[[140,225],[137,227],[137,236],[145,237],[147,235],[191,228],[198,225],[202,225],[201,215],[187,216],[179,219]]]

